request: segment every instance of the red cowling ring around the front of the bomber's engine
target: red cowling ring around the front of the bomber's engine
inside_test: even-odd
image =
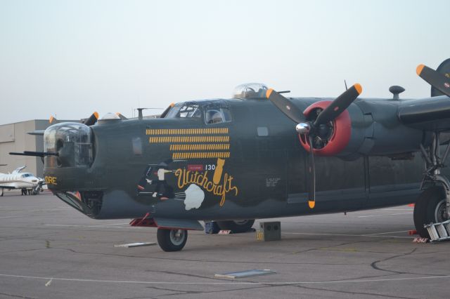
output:
[[[330,100],[315,102],[314,104],[309,105],[307,109],[304,109],[303,114],[307,119],[314,121],[314,119],[309,117],[309,114],[316,109],[325,109],[330,103]],[[319,156],[334,156],[339,154],[349,144],[351,135],[352,121],[350,120],[349,112],[345,110],[333,120],[333,132],[327,138],[326,145],[320,149],[314,149],[314,154],[318,154]],[[299,137],[302,146],[309,152],[310,146],[307,142],[307,135],[299,135]]]

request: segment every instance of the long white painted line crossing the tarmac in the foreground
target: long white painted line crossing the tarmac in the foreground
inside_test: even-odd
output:
[[[420,279],[448,279],[450,275],[442,276],[425,276],[425,277],[404,277],[404,278],[386,278],[386,279],[345,279],[345,280],[328,280],[328,281],[284,281],[284,282],[252,282],[252,281],[214,281],[214,282],[184,282],[184,281],[128,281],[128,280],[102,280],[102,279],[75,279],[75,278],[57,278],[57,277],[37,277],[25,275],[0,274],[0,277],[13,277],[23,279],[51,279],[60,281],[80,281],[80,282],[96,282],[96,283],[113,283],[113,284],[266,284],[266,285],[290,285],[290,284],[354,284],[355,282],[380,282],[380,281],[409,281]],[[207,279],[207,278],[205,278]]]

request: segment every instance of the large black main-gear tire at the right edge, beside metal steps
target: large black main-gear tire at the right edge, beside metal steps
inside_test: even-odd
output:
[[[422,192],[414,206],[413,216],[414,226],[420,237],[430,238],[428,230],[423,225],[447,220],[444,189],[431,187]]]

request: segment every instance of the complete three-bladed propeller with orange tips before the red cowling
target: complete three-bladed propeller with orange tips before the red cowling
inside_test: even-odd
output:
[[[285,98],[280,93],[277,93],[273,89],[269,89],[266,92],[266,98],[274,103],[278,109],[281,110],[288,118],[297,123],[295,131],[300,135],[307,137],[309,141],[309,188],[308,188],[308,205],[309,208],[314,208],[316,205],[316,165],[314,163],[314,139],[315,137],[321,138],[328,132],[327,124],[340,116],[342,112],[349,107],[350,104],[362,92],[360,84],[354,84],[354,86],[344,91],[338,98],[335,98],[328,107],[323,109],[316,117],[315,120],[305,121],[303,112],[293,104],[291,100]]]

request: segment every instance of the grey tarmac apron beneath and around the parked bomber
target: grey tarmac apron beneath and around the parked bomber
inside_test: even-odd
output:
[[[129,220],[92,220],[49,193],[0,197],[0,298],[449,298],[450,242],[413,243],[413,208],[276,219],[255,232],[189,232],[183,251]],[[259,227],[259,221],[254,227]],[[218,279],[269,269],[275,274]]]

